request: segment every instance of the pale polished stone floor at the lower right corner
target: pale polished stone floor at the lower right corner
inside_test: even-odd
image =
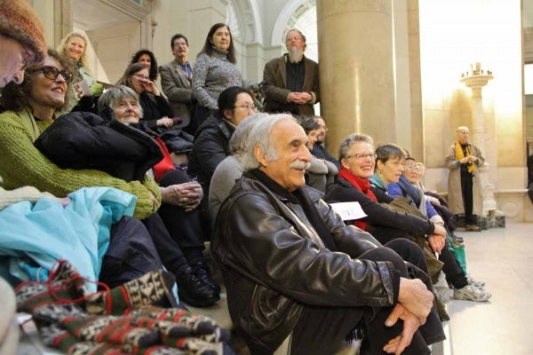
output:
[[[492,298],[449,302],[451,353],[533,354],[533,224],[460,234],[468,272],[487,283]]]

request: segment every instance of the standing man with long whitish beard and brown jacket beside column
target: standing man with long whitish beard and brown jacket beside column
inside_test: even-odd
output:
[[[288,53],[270,60],[263,72],[265,111],[312,115],[320,101],[318,64],[304,56],[306,36],[298,29],[287,32],[285,44]]]

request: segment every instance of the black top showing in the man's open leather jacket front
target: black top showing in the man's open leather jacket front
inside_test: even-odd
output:
[[[261,183],[266,185],[271,192],[282,196],[282,198],[287,199],[292,204],[300,206],[304,210],[309,223],[311,223],[314,231],[318,234],[326,248],[330,249],[331,251],[337,250],[337,248],[335,248],[335,241],[333,241],[330,230],[320,216],[320,213],[318,213],[313,201],[311,201],[307,193],[302,188],[298,187],[296,190],[290,193],[286,188],[276,183],[272,178],[268,177],[267,174],[259,169],[252,169],[248,170],[247,172],[245,171],[243,175],[248,175],[247,173],[250,174],[252,178],[259,180]],[[248,177],[250,177],[250,175],[248,175]]]

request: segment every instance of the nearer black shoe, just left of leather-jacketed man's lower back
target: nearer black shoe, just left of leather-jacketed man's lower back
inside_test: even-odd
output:
[[[219,292],[197,278],[190,267],[187,267],[185,272],[176,275],[176,283],[178,284],[179,301],[193,307],[209,307],[220,300]]]

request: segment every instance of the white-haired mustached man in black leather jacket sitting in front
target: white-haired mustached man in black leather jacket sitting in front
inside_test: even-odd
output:
[[[211,250],[239,334],[253,354],[335,353],[361,329],[362,353],[429,354],[442,326],[433,294],[409,276],[425,278],[412,265],[424,256],[346,226],[305,185],[306,142],[288,114],[257,122],[243,177],[219,209]]]

